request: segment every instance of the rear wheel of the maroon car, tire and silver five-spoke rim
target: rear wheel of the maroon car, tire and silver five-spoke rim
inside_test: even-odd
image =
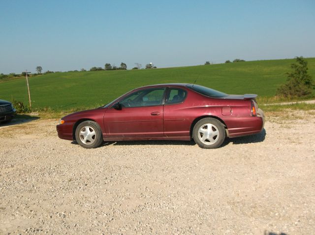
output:
[[[226,133],[223,124],[215,118],[203,118],[199,120],[192,131],[192,138],[201,148],[220,147]]]

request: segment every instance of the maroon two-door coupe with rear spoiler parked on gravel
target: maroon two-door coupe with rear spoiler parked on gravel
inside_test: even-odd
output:
[[[255,94],[228,95],[193,84],[136,88],[111,103],[70,114],[57,125],[58,136],[85,148],[103,141],[185,140],[220,147],[226,137],[259,133],[264,114]]]

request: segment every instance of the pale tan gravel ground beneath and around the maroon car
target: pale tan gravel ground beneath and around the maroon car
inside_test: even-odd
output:
[[[314,234],[315,111],[268,117],[219,149],[0,127],[0,234]]]

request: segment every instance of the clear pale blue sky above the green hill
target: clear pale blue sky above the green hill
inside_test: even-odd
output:
[[[0,0],[0,73],[315,57],[314,0]]]

